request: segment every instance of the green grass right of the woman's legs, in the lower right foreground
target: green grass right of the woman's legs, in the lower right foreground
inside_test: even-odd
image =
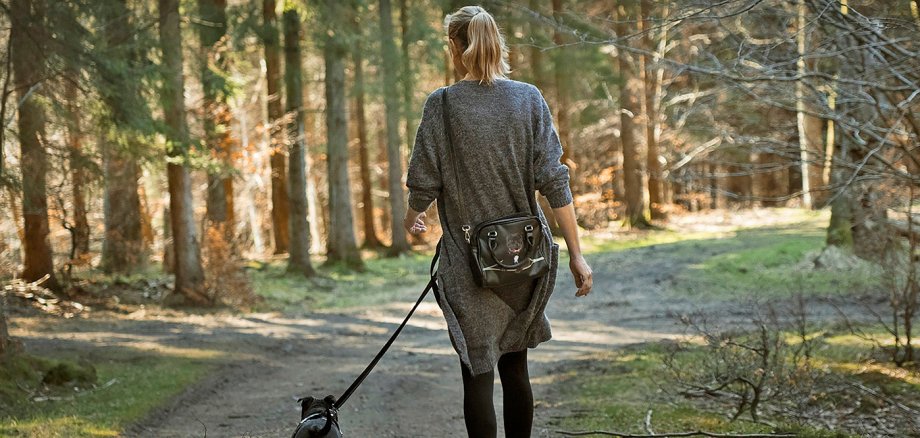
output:
[[[881,331],[875,332],[882,337]],[[881,339],[881,338],[880,338]],[[832,372],[879,388],[889,396],[911,397],[920,391],[920,376],[893,365],[866,361],[871,343],[854,340],[849,334],[825,335],[815,350],[818,366]],[[657,433],[705,430],[722,433],[769,432],[772,428],[749,421],[745,417],[734,422],[723,412],[712,412],[699,402],[669,394],[662,388],[671,387],[662,359],[662,344],[635,345],[614,352],[596,355],[580,361],[557,377],[566,388],[560,399],[563,407],[575,415],[561,420],[558,429],[568,431],[607,430],[625,433],[646,433],[644,420],[652,411],[652,428]],[[680,360],[680,366],[690,368],[701,350],[691,350]],[[748,417],[749,418],[749,417]],[[817,430],[777,422],[778,429],[794,431],[804,438],[850,437],[838,432]]]

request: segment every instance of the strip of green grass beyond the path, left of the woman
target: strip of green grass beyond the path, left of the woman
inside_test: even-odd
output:
[[[275,261],[252,272],[255,292],[265,298],[261,307],[286,311],[372,306],[411,299],[428,282],[431,254],[365,259],[363,272],[342,265],[317,265],[320,278],[305,279],[285,272],[286,262]]]

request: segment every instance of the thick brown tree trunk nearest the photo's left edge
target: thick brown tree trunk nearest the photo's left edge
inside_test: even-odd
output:
[[[44,2],[13,0],[10,4],[10,49],[19,104],[19,147],[22,168],[22,216],[25,228],[25,269],[22,278],[35,281],[45,275],[45,287],[60,290],[54,276],[48,242],[48,198],[45,175],[45,111],[38,99],[45,73]]]

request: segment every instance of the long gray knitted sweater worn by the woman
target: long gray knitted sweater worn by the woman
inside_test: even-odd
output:
[[[435,200],[442,239],[438,278],[441,310],[461,362],[472,374],[494,369],[508,352],[536,347],[551,337],[544,310],[553,292],[559,247],[549,243],[549,274],[503,288],[476,286],[469,267],[470,248],[461,230],[464,219],[479,222],[536,206],[534,190],[553,208],[572,202],[568,168],[543,95],[533,85],[500,79],[493,85],[459,81],[446,88],[454,132],[454,158],[448,155],[441,92],[428,96],[409,162],[409,206],[425,211]],[[455,181],[457,166],[459,184]],[[462,198],[459,191],[462,190]],[[462,199],[462,202],[461,202]]]

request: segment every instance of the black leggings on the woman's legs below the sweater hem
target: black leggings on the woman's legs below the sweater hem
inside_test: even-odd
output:
[[[463,418],[470,438],[495,438],[497,425],[492,404],[495,372],[473,376],[463,369]],[[530,438],[533,426],[533,391],[527,372],[527,350],[506,353],[498,359],[498,374],[505,399],[505,436]]]

